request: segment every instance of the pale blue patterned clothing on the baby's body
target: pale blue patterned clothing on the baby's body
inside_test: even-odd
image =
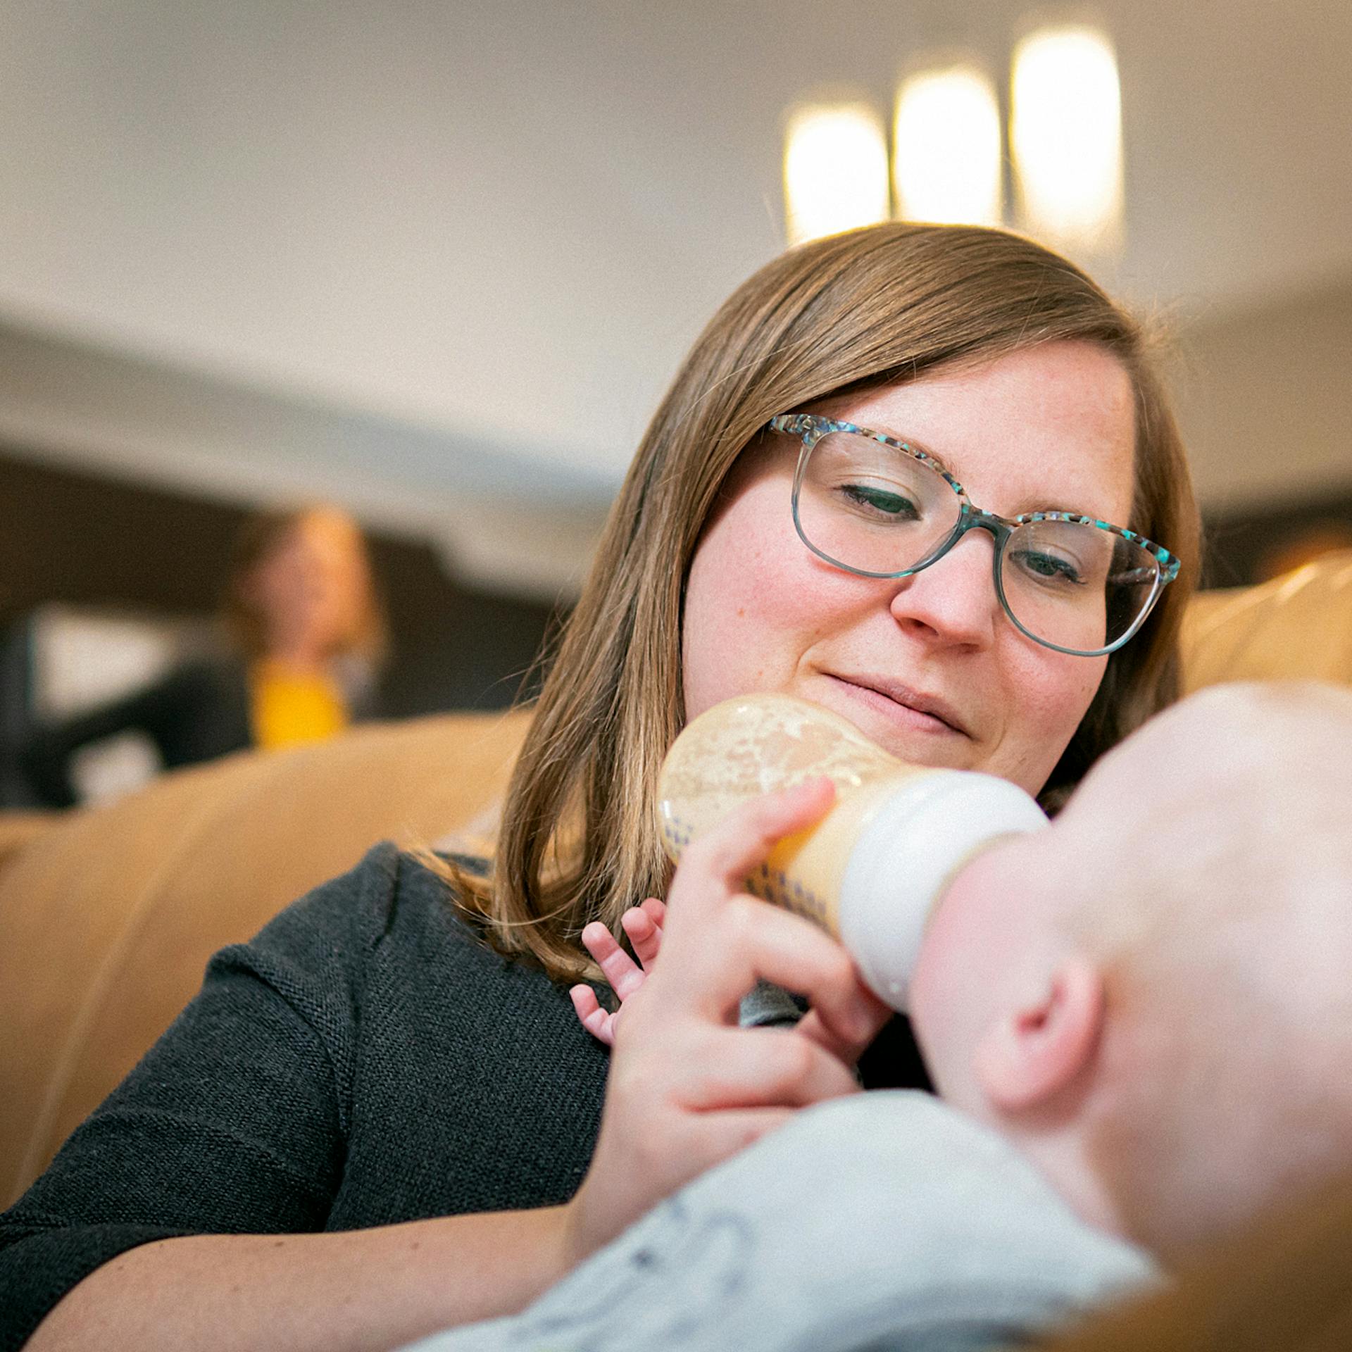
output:
[[[522,1314],[415,1347],[977,1352],[1156,1278],[1002,1137],[929,1094],[880,1090],[799,1113]]]

